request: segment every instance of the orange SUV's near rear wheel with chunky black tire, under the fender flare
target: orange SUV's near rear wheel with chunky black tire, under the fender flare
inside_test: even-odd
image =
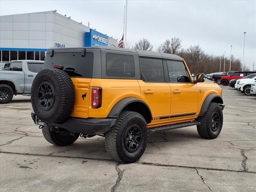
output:
[[[137,112],[124,111],[105,136],[106,151],[113,160],[123,163],[136,162],[147,146],[146,120]]]

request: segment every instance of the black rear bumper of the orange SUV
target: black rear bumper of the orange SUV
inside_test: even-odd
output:
[[[36,115],[31,112],[31,117],[36,122]],[[46,123],[48,126],[64,128],[70,132],[82,133],[86,135],[98,135],[108,132],[116,123],[115,118],[69,118],[63,123]]]

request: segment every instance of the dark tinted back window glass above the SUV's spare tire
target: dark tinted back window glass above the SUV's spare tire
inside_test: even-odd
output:
[[[84,57],[81,55],[81,52],[54,52],[53,57],[50,57],[50,54],[46,54],[44,68],[53,68],[54,65],[63,66],[63,70],[70,76],[92,78],[93,53],[86,52]]]

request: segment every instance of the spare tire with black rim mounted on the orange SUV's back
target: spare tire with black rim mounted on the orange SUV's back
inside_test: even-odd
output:
[[[64,122],[75,102],[74,85],[70,76],[59,69],[40,71],[32,84],[31,103],[43,122]]]

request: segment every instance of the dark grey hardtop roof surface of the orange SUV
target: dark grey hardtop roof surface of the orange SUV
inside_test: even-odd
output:
[[[48,50],[74,50],[74,49],[80,49],[80,50],[82,50],[82,49],[113,50],[113,51],[138,53],[138,55],[140,57],[164,58],[164,59],[180,60],[180,61],[184,60],[180,56],[174,55],[174,54],[159,53],[159,52],[154,52],[154,51],[142,51],[142,50],[134,50],[134,49],[125,49],[125,48],[117,48],[117,47],[109,47],[109,46],[49,48]]]

